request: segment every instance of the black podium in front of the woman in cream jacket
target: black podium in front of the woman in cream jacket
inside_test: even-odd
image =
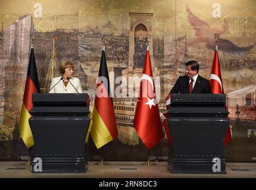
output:
[[[33,159],[42,159],[43,173],[85,173],[85,140],[90,119],[88,94],[33,94],[29,125]],[[32,173],[35,171],[35,160]]]

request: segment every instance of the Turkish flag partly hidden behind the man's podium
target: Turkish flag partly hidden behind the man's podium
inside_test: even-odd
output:
[[[224,94],[223,90],[223,83],[221,79],[221,72],[220,72],[220,63],[218,62],[218,51],[215,50],[214,59],[213,59],[213,66],[211,67],[211,74],[210,74],[210,85],[211,91],[213,94]],[[225,106],[226,108],[226,106]],[[231,140],[231,131],[230,128],[227,129],[224,145],[229,143]]]

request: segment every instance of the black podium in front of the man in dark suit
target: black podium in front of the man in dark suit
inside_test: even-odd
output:
[[[171,94],[167,110],[171,173],[226,173],[224,137],[229,128],[225,94]]]

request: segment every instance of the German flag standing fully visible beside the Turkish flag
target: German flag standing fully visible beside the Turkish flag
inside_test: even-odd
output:
[[[110,79],[104,50],[102,50],[97,81],[90,135],[96,147],[101,148],[117,137],[117,124],[110,97]]]

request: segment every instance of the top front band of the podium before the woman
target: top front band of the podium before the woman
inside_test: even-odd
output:
[[[87,103],[88,94],[86,93],[34,93],[33,103]]]

